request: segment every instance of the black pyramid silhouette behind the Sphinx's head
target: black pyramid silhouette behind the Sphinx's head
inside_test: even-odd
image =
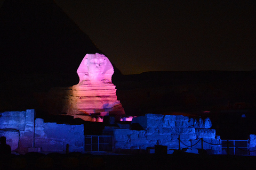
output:
[[[87,53],[102,52],[53,0],[6,0],[0,8],[0,111],[37,108],[38,92],[77,84]]]

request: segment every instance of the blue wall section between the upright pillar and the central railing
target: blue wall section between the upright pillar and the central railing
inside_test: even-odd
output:
[[[36,119],[35,147],[44,152],[84,151],[84,125],[67,125],[44,123],[42,118]]]

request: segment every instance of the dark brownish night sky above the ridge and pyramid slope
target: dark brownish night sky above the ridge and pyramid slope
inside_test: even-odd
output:
[[[55,2],[123,74],[256,69],[255,1]]]

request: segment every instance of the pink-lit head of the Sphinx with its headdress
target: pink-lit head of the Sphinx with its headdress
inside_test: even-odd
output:
[[[105,55],[86,54],[77,69],[78,86],[111,83],[113,73],[113,65]]]

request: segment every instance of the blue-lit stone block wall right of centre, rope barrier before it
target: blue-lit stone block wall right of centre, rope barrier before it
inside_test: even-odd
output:
[[[194,145],[203,138],[203,149],[212,151],[213,154],[220,154],[220,139],[216,137],[215,130],[209,118],[189,118],[176,115],[146,114],[145,116],[134,117],[131,129],[115,129],[106,127],[103,133],[112,131],[115,139],[115,149],[146,149],[155,145],[167,146],[169,149],[179,149],[179,137],[181,142],[187,146]],[[206,143],[208,142],[208,143]],[[180,148],[188,148],[180,144]],[[202,143],[198,142],[192,149],[202,149]]]

